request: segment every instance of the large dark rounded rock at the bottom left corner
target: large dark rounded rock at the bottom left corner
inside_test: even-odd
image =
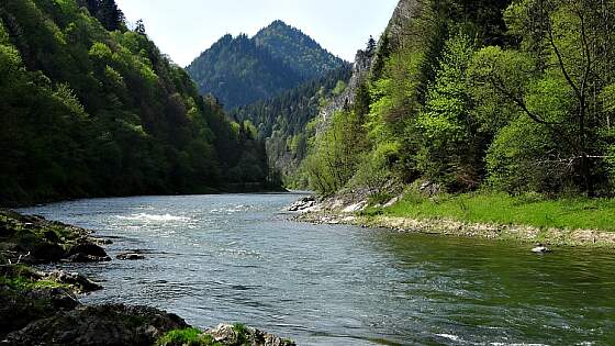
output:
[[[150,346],[166,332],[188,324],[153,308],[83,306],[31,323],[7,336],[9,345]]]

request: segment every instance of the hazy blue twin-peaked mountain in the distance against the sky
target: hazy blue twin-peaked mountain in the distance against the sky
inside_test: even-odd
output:
[[[276,21],[257,35],[225,35],[186,70],[225,109],[272,98],[346,64],[301,31]]]

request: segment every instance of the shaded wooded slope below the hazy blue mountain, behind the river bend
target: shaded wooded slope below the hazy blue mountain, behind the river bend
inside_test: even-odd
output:
[[[293,177],[316,134],[315,122],[324,104],[340,94],[350,78],[350,65],[284,91],[278,97],[231,111],[231,116],[255,124],[258,137],[267,141],[269,165],[279,170],[287,185],[301,183]]]

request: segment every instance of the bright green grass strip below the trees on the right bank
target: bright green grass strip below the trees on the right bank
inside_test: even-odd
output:
[[[366,214],[425,219],[455,219],[471,223],[530,225],[541,228],[615,231],[615,199],[557,199],[539,194],[511,197],[505,193],[468,193],[426,199],[407,193],[387,209]]]

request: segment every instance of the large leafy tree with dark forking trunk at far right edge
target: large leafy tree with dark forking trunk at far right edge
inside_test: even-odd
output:
[[[613,10],[612,1],[600,0],[516,2],[506,11],[506,19],[512,32],[526,43],[525,63],[513,65],[511,59],[522,55],[490,48],[482,54],[479,74],[482,81],[556,135],[562,148],[557,158],[545,159],[570,163],[577,185],[590,196],[605,178],[601,176],[607,158],[604,147],[590,138],[599,137],[608,122],[599,96],[614,77],[610,27],[615,23],[608,14]],[[561,102],[566,99],[573,102]]]

